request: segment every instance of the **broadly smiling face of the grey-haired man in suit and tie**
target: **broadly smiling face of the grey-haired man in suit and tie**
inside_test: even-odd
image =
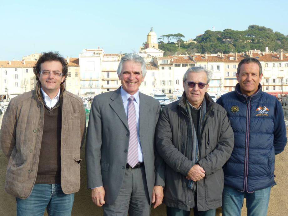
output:
[[[138,92],[139,86],[144,80],[141,63],[134,61],[124,62],[119,80],[121,81],[122,88],[130,95]]]

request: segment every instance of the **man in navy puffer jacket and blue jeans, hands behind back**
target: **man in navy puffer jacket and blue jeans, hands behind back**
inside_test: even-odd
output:
[[[262,66],[256,58],[245,58],[237,68],[235,91],[217,103],[228,114],[234,131],[234,149],[224,165],[225,186],[222,213],[241,215],[246,198],[248,215],[267,215],[274,182],[275,154],[287,142],[281,103],[262,92]]]

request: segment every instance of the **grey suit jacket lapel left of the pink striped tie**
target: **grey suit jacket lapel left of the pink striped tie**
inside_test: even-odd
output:
[[[114,110],[114,112],[118,115],[120,120],[123,122],[125,127],[129,130],[127,116],[126,116],[125,109],[124,109],[124,106],[123,106],[123,100],[122,100],[122,97],[121,97],[121,94],[120,94],[120,88],[118,88],[112,94],[112,96],[110,97],[110,99],[112,101],[109,104],[110,104],[111,108]]]

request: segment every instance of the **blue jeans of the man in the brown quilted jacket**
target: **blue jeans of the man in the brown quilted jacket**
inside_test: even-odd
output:
[[[35,184],[28,198],[16,198],[16,201],[17,216],[43,216],[45,208],[48,215],[70,216],[74,193],[63,193],[61,184]]]

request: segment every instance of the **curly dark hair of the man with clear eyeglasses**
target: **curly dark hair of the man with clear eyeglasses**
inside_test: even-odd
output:
[[[64,83],[66,78],[67,78],[67,75],[68,75],[68,63],[66,62],[65,58],[63,58],[58,52],[43,53],[40,56],[40,58],[36,62],[36,65],[33,67],[33,72],[36,75],[36,80],[39,81],[39,78],[37,75],[38,75],[38,73],[40,73],[41,64],[44,62],[51,62],[51,61],[58,61],[62,64],[62,73],[65,76],[65,79],[62,83]]]

